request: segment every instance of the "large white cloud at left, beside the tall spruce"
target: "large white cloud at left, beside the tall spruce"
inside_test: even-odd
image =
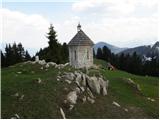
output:
[[[0,9],[2,40],[4,43],[21,42],[26,48],[45,47],[49,21],[41,15],[27,15],[9,9]]]

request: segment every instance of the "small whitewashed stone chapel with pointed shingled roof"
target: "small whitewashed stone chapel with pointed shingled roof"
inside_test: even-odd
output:
[[[77,34],[68,43],[69,62],[75,68],[89,68],[93,65],[93,41],[77,26]]]

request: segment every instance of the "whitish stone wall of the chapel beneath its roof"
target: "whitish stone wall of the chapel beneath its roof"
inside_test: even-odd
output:
[[[69,60],[70,65],[75,68],[91,67],[93,48],[91,46],[69,46]]]

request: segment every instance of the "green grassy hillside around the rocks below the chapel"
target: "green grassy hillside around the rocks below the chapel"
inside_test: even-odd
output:
[[[96,64],[105,66],[104,61],[96,60]],[[58,72],[74,71],[69,66],[64,69],[49,67],[40,69],[38,64],[16,64],[2,69],[1,80],[1,115],[11,118],[18,114],[20,118],[62,118],[59,108],[61,100],[67,92],[64,88],[71,87],[64,81],[57,81]],[[21,73],[19,73],[21,72]],[[72,111],[65,111],[67,118],[158,118],[159,117],[159,78],[144,77],[123,71],[99,71],[109,80],[108,95],[96,95],[94,104],[78,101]],[[40,78],[41,84],[36,81]],[[125,83],[131,78],[140,85],[141,92]],[[19,97],[15,97],[15,93]],[[20,97],[24,95],[23,99]],[[155,101],[147,99],[150,97]],[[121,105],[112,104],[116,101]],[[128,112],[124,109],[127,108]]]

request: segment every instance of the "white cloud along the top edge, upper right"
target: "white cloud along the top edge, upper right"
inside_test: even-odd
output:
[[[76,12],[86,12],[91,9],[103,9],[105,14],[129,15],[138,6],[145,6],[152,9],[158,7],[158,0],[81,0],[72,5],[72,10]],[[139,11],[141,12],[141,11]]]

